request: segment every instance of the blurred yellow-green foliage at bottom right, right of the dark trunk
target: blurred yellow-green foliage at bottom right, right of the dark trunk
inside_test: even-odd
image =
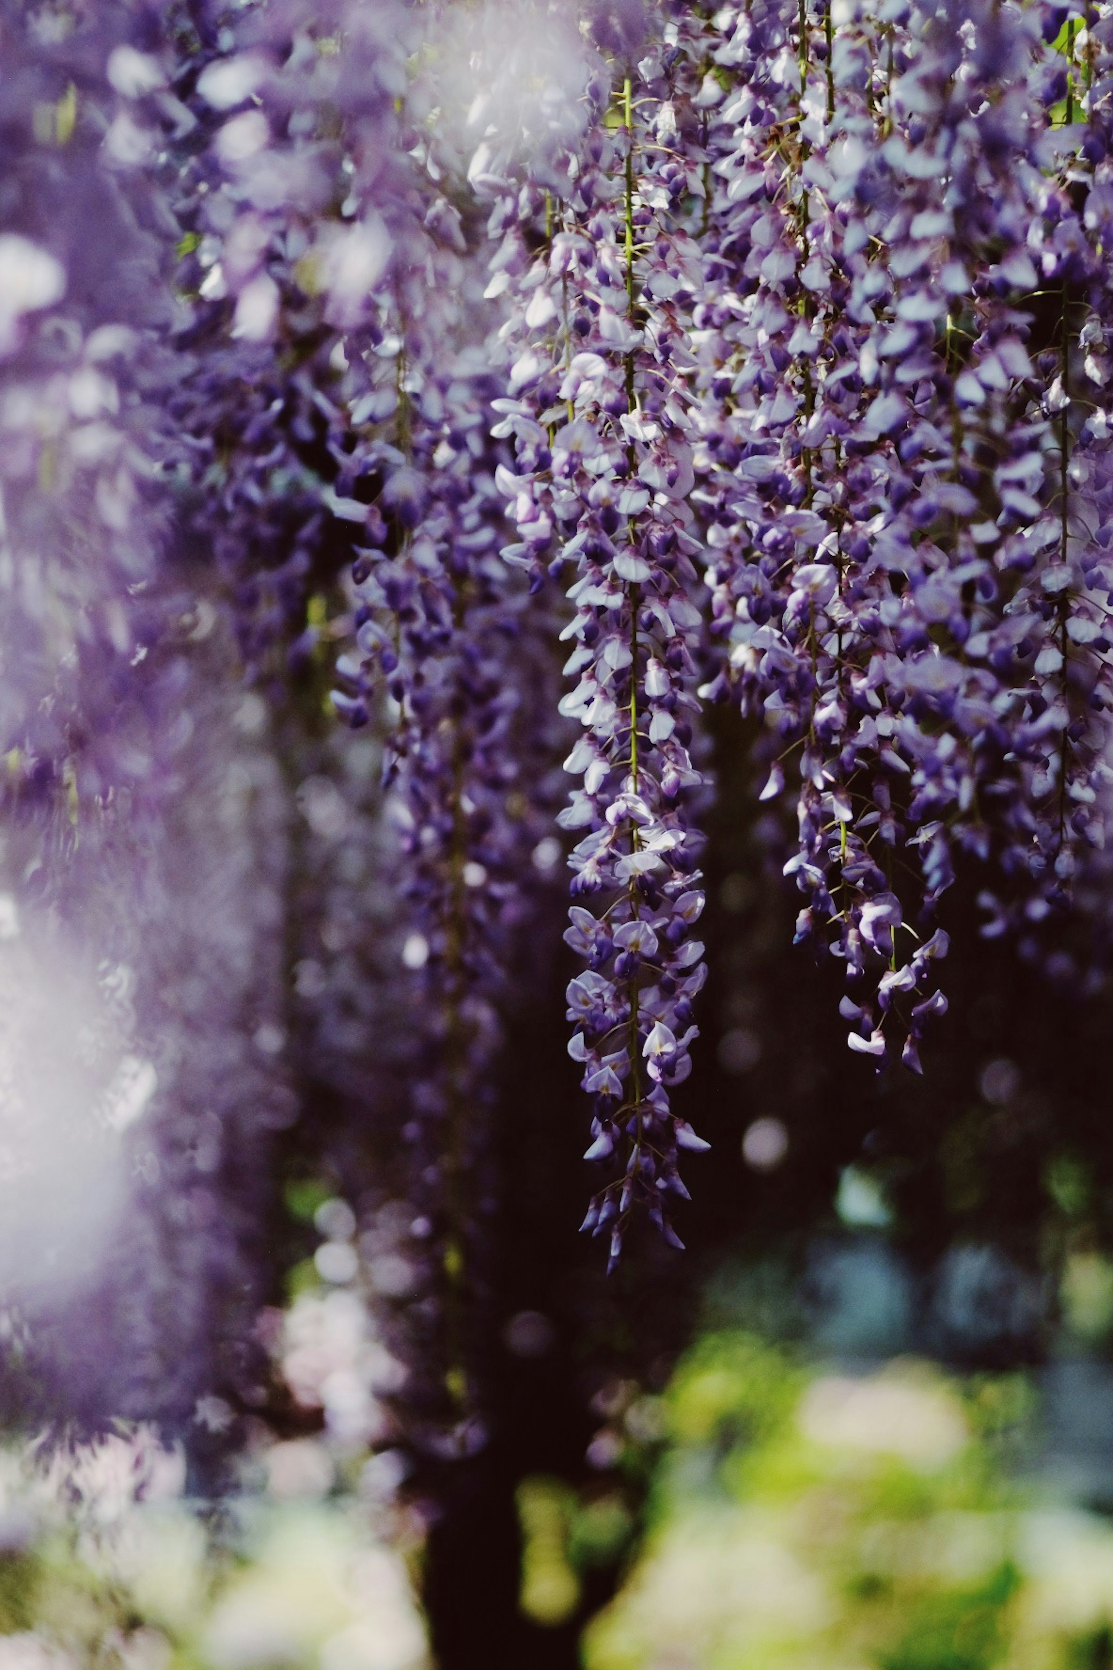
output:
[[[1113,1528],[1005,1468],[1025,1383],[704,1338],[587,1670],[1106,1670]]]

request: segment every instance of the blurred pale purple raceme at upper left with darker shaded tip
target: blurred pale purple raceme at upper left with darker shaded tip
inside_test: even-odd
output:
[[[295,668],[312,651],[322,623],[307,600],[350,561],[362,523],[334,456],[360,386],[342,336],[374,317],[395,240],[426,209],[397,109],[414,38],[389,0],[249,5],[167,72],[174,122],[145,85],[128,104],[165,147],[182,227],[164,468],[227,576],[255,671],[275,645]]]

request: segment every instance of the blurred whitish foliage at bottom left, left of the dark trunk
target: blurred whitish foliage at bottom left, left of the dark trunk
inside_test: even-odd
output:
[[[0,1461],[3,1670],[421,1670],[404,1548],[322,1456],[270,1451],[270,1481],[219,1520],[182,1496],[180,1458],[142,1431],[77,1463]]]

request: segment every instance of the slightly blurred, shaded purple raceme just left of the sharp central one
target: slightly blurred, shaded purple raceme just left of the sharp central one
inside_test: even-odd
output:
[[[459,1289],[472,1278],[496,1000],[541,835],[534,763],[521,755],[536,668],[529,623],[522,631],[526,588],[499,559],[506,529],[489,439],[497,384],[467,351],[449,359],[444,337],[436,357],[422,356],[421,332],[395,342],[399,428],[354,454],[384,484],[357,554],[355,653],[337,663],[345,690],[334,703],[384,735],[394,885],[405,902],[402,974],[424,1037],[405,1127],[421,1162],[414,1199]]]

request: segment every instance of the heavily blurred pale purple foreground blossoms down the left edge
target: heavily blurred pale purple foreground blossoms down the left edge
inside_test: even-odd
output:
[[[100,992],[87,1014],[58,995],[78,1069],[103,1054],[105,1015],[125,1050],[85,1109],[123,1211],[80,1271],[52,1221],[58,1109],[37,1086],[25,1109],[5,1099],[12,1152],[30,1156],[10,1184],[40,1211],[8,1244],[5,1293],[18,1328],[35,1323],[20,1349],[38,1420],[189,1431],[199,1396],[255,1386],[272,1132],[294,1117],[274,1047],[287,848],[207,551],[180,551],[164,474],[180,229],[133,107],[170,124],[180,107],[147,22],[108,3],[0,23],[3,939],[32,1009],[55,997],[37,967]],[[67,1087],[67,1119],[92,1077]],[[93,1197],[103,1177],[85,1182]]]

